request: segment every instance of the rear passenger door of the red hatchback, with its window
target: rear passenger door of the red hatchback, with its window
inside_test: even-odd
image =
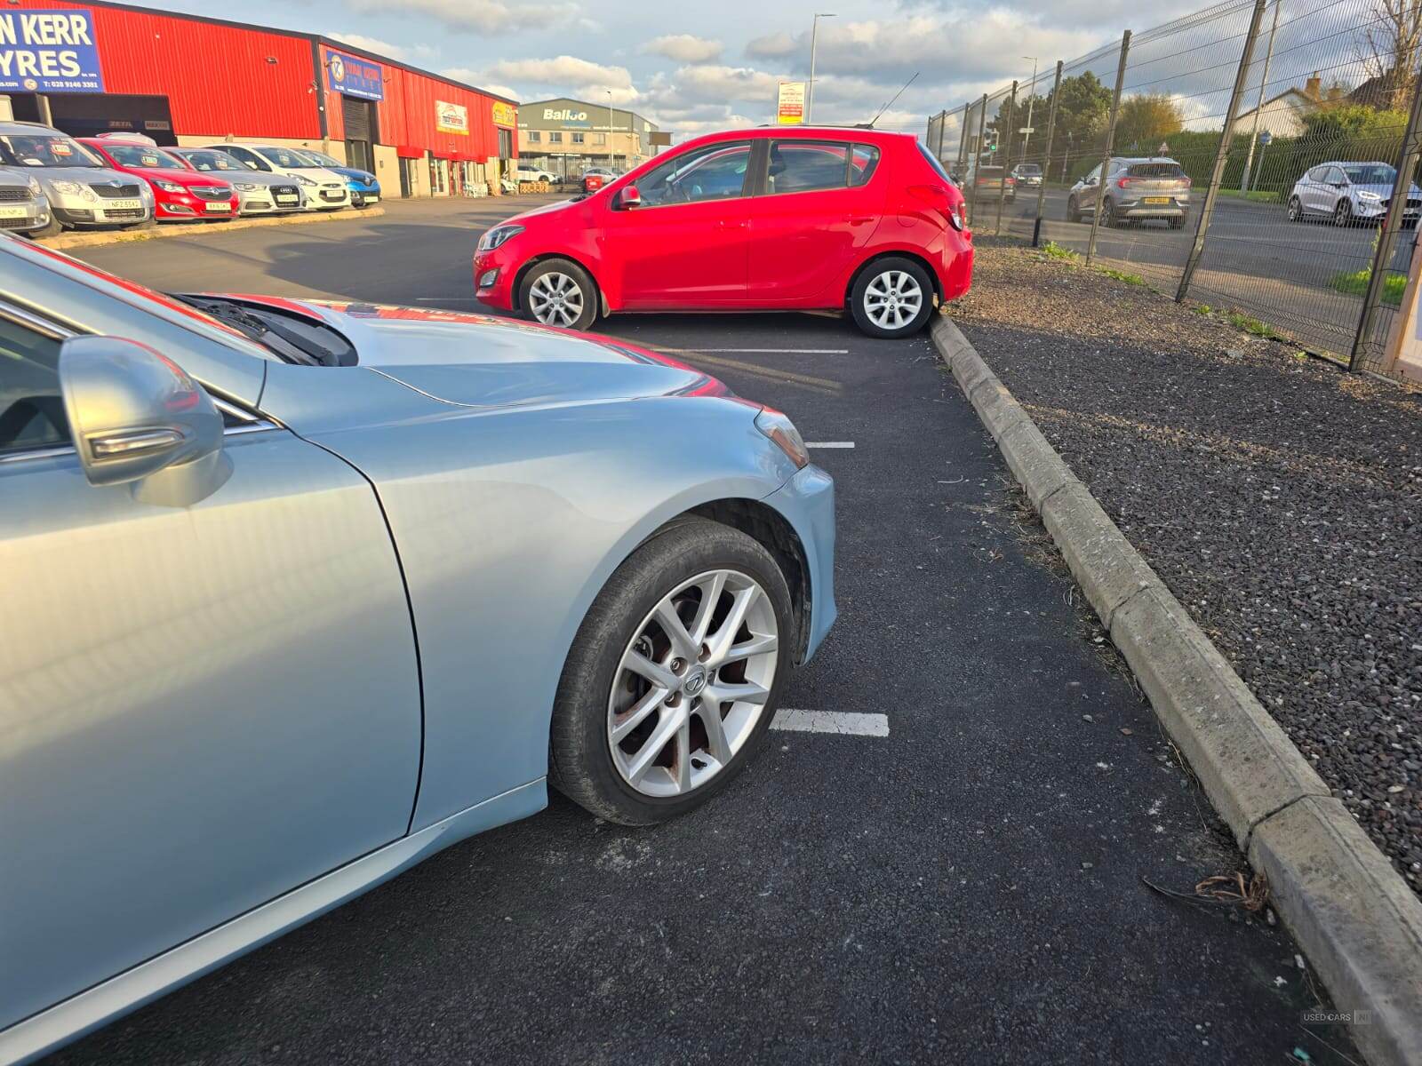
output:
[[[826,291],[869,243],[887,183],[879,149],[846,141],[772,141],[764,195],[749,208],[752,304],[838,306]],[[826,303],[828,300],[828,303]]]

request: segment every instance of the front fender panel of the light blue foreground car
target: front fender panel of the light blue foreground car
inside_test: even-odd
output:
[[[567,651],[637,544],[694,507],[764,500],[791,480],[754,416],[711,397],[651,397],[428,401],[421,416],[360,428],[292,418],[370,479],[400,554],[424,692],[412,831],[546,775]]]

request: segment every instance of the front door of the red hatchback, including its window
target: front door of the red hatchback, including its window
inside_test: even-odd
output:
[[[702,145],[637,181],[641,206],[609,205],[600,259],[621,308],[744,306],[749,169],[749,141]]]

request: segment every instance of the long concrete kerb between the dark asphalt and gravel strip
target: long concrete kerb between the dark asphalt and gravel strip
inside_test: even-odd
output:
[[[946,316],[933,341],[1358,1046],[1422,1063],[1422,903]]]

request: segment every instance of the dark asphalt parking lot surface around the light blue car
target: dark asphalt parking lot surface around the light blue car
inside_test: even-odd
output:
[[[164,289],[478,310],[478,233],[530,199],[82,257]],[[1187,894],[1241,858],[927,335],[599,328],[795,419],[838,485],[840,617],[785,706],[883,714],[887,736],[772,732],[656,830],[555,796],[53,1063],[1347,1062],[1303,1026],[1287,935],[1145,884]]]

